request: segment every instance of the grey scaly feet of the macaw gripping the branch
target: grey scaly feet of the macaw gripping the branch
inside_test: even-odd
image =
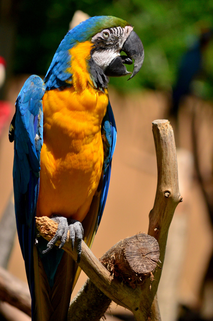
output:
[[[59,248],[62,248],[67,239],[67,232],[69,230],[70,239],[72,241],[72,249],[74,249],[74,242],[76,239],[77,243],[77,263],[80,262],[81,258],[81,242],[83,239],[83,227],[79,221],[66,219],[66,217],[60,215],[51,216],[51,220],[58,223],[58,229],[55,233],[55,236],[50,240],[47,244],[47,249],[42,251],[42,254],[48,253],[56,244],[56,242],[60,239],[61,244]]]

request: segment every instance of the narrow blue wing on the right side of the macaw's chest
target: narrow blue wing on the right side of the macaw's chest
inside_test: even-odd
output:
[[[102,121],[102,133],[106,137],[107,141],[107,150],[106,150],[106,157],[104,158],[104,175],[103,175],[103,185],[99,203],[99,213],[98,213],[98,225],[96,228],[96,232],[98,230],[100,220],[104,211],[104,207],[106,204],[106,197],[109,189],[109,181],[110,181],[110,174],[111,174],[111,164],[112,164],[112,156],[115,149],[117,131],[115,126],[114,115],[112,111],[112,107],[110,102],[107,106],[106,115]]]

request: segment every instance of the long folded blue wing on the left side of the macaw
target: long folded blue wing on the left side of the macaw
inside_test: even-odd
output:
[[[43,143],[44,92],[45,85],[40,77],[32,75],[27,79],[16,100],[16,113],[9,133],[9,136],[14,136],[13,187],[16,224],[31,294],[34,293],[32,250]]]

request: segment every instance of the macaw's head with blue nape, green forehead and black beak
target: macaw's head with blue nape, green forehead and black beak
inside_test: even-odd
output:
[[[129,79],[143,64],[143,44],[128,22],[112,16],[91,17],[69,30],[61,41],[44,78],[46,89],[72,83],[72,49],[85,43],[90,44],[87,71],[96,88],[106,88],[110,76],[130,75],[125,65],[132,64],[133,59]],[[126,55],[121,56],[121,51]]]

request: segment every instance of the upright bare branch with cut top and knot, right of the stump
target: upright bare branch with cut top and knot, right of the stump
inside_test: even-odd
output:
[[[152,235],[160,248],[160,269],[154,273],[154,290],[156,296],[151,307],[152,314],[160,320],[160,312],[157,303],[157,288],[161,278],[164,262],[166,242],[170,223],[177,204],[182,202],[178,188],[177,156],[175,139],[172,127],[168,120],[155,120],[153,123],[153,136],[157,157],[157,190],[154,207],[149,213],[148,234]]]

